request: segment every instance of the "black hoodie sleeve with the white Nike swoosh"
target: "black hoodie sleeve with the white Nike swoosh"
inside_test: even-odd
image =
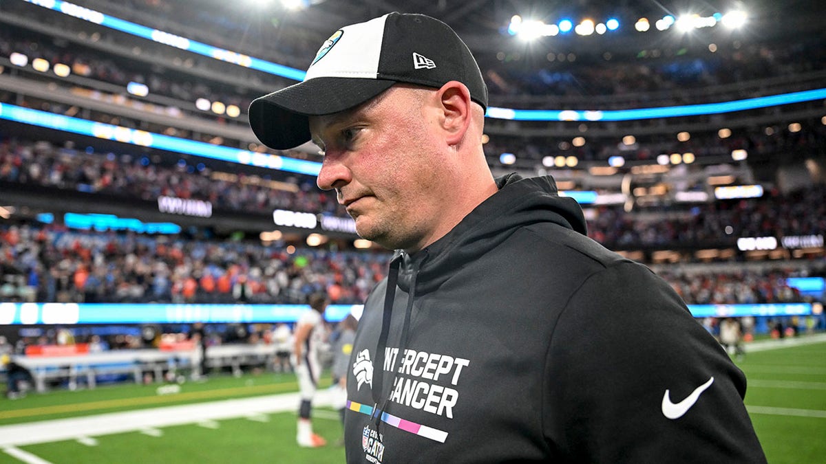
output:
[[[563,462],[766,462],[746,380],[671,286],[617,263],[553,329],[544,433]]]

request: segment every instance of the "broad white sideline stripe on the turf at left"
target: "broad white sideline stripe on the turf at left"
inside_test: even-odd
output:
[[[316,392],[313,404],[329,406],[330,399],[331,395],[328,391],[320,390]],[[13,452],[17,449],[16,446],[36,443],[78,440],[78,438],[99,437],[112,433],[140,432],[147,428],[198,424],[221,419],[280,413],[298,410],[299,402],[298,393],[286,393],[282,395],[254,396],[239,400],[213,401],[196,405],[167,406],[149,410],[3,425],[0,426],[0,447]]]

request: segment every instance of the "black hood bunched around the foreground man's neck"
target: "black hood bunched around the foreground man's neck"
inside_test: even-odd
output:
[[[415,294],[435,290],[453,270],[496,247],[520,226],[553,222],[586,234],[585,216],[576,200],[559,196],[551,176],[522,178],[510,173],[496,178],[499,192],[477,206],[448,234],[430,246],[401,259],[398,284],[409,291],[411,277],[418,272]],[[415,282],[415,281],[414,281]]]

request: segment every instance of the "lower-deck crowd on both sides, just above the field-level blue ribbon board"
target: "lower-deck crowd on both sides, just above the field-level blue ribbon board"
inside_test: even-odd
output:
[[[3,301],[360,304],[386,272],[390,253],[184,239],[62,226],[0,228]],[[690,304],[807,301],[786,277],[824,275],[822,260],[803,268],[738,272],[661,272]]]

